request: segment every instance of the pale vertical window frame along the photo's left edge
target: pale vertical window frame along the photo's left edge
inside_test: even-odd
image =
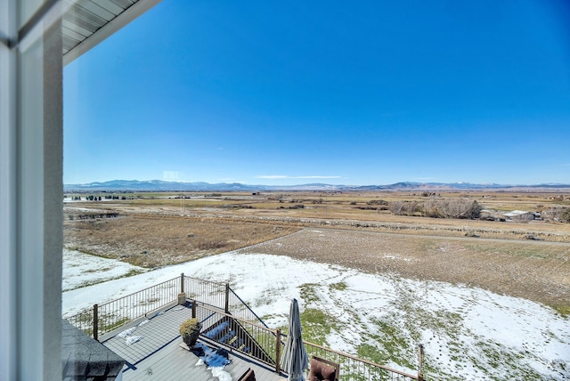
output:
[[[61,1],[0,0],[0,379],[61,379]]]

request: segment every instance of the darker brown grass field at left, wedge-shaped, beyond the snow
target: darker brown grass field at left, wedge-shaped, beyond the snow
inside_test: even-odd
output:
[[[297,229],[212,218],[124,215],[65,223],[65,246],[144,267],[183,263],[247,247]]]

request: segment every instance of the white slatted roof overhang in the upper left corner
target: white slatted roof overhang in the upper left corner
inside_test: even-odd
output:
[[[63,65],[89,51],[161,0],[65,0]]]

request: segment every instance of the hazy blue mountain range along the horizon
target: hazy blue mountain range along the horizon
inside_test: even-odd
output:
[[[310,183],[299,185],[246,185],[239,182],[165,182],[162,180],[111,180],[86,184],[65,184],[65,191],[261,191],[261,190],[519,190],[519,191],[570,191],[570,184],[546,183],[536,185],[505,185],[470,182],[396,182],[388,185],[330,185]]]

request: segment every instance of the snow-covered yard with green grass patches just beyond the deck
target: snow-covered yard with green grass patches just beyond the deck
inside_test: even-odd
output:
[[[421,343],[431,380],[570,379],[570,319],[542,304],[480,288],[239,251],[114,280],[109,279],[142,269],[69,252],[64,261],[64,288],[102,281],[64,292],[64,316],[183,272],[229,282],[273,328],[286,326],[295,297],[307,335],[395,369],[415,373],[415,347]],[[113,270],[99,278],[94,269],[101,267]]]

